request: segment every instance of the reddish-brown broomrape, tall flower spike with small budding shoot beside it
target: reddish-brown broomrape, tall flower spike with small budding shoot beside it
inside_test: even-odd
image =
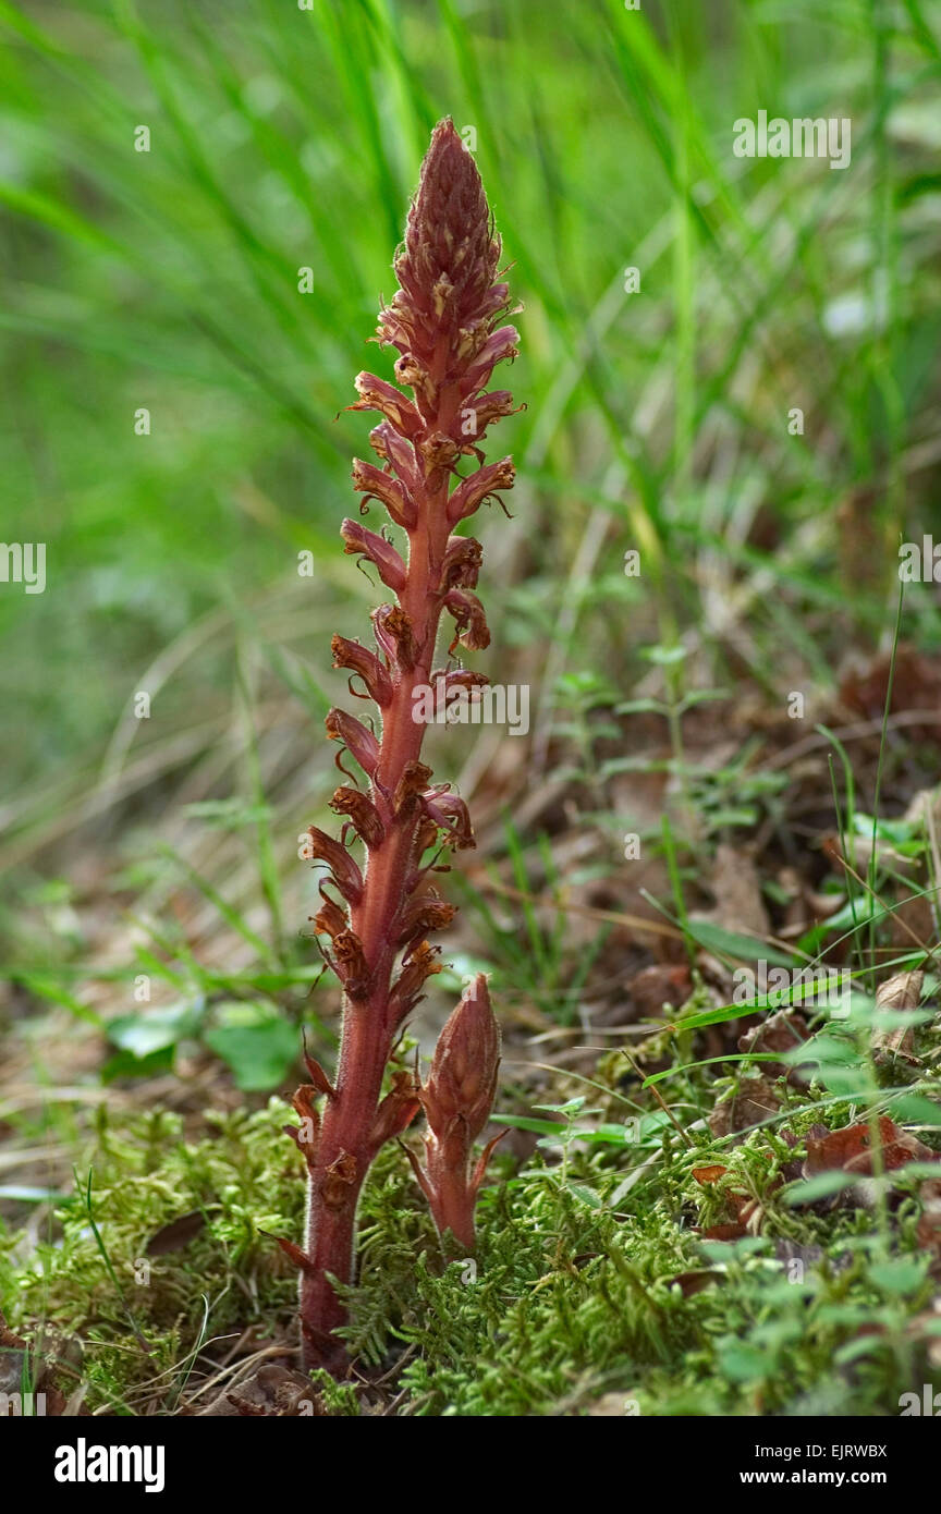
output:
[[[310,1083],[293,1099],[301,1123],[287,1131],[309,1170],[307,1240],[306,1249],[281,1245],[301,1269],[304,1363],[333,1373],[345,1367],[334,1281],[351,1281],[357,1201],[378,1149],[424,1110],[425,1163],[410,1154],[411,1164],[440,1234],[471,1249],[477,1192],[493,1146],[471,1170],[499,1063],[499,1028],[483,974],[445,1025],[428,1081],[395,1067],[383,1096],[383,1079],[425,980],[440,970],[428,936],[455,913],[434,887],[434,875],[446,871],[440,857],[474,846],[463,799],[449,784],[433,783],[421,760],[425,722],[415,718],[415,693],[430,686],[446,709],[489,681],[455,660],[458,646],[475,651],[490,642],[474,593],[483,550],[458,527],[514,478],[510,457],[487,465],[481,451],[489,427],[513,413],[505,389],[487,392],[496,363],[517,351],[516,330],[499,324],[508,313],[499,254],[477,165],[452,123],[442,121],[395,257],[399,289],[380,312],[378,342],[398,348],[401,388],[363,372],[349,406],[383,416],[369,436],[381,466],[360,459],[352,465],[360,513],[375,501],[408,537],[405,560],[384,533],[359,521],[342,525],[345,551],[371,562],[393,595],[372,612],[375,653],[333,637],[334,666],[351,671],[351,693],[359,677],[366,690],[360,696],[377,706],[381,737],[343,710],[328,713],[327,734],[363,771],[368,792],[354,780],[333,795],[331,808],[343,818],[339,840],[316,827],[309,833],[309,854],[328,868],[315,930],[328,940],[321,949],[343,989],[343,1019],[334,1081],[306,1057]],[[475,465],[466,477],[458,472],[464,459]],[[433,669],[442,610],[454,634],[446,666]],[[362,866],[349,851],[356,839]]]

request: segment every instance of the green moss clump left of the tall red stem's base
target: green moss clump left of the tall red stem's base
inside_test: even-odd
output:
[[[80,1355],[89,1407],[139,1413],[156,1393],[171,1408],[203,1341],[290,1319],[297,1275],[260,1234],[292,1235],[301,1220],[297,1155],[281,1134],[289,1114],[277,1099],[254,1113],[209,1111],[206,1134],[186,1142],[175,1114],[116,1122],[101,1108],[48,1241],[15,1266],[17,1235],[0,1234],[9,1322],[42,1326],[67,1361]],[[204,1219],[197,1234],[148,1257],[157,1231],[194,1211]]]

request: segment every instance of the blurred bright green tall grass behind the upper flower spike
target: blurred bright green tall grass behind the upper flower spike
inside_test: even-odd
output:
[[[935,0],[2,0],[0,27],[3,534],[45,540],[48,575],[0,592],[0,860],[27,898],[89,851],[153,883],[188,802],[263,831],[274,804],[278,914],[333,772],[328,637],[372,595],[336,534],[371,422],[334,416],[389,372],[365,341],[443,114],[525,304],[480,660],[507,648],[539,699],[519,781],[558,692],[629,695],[649,643],[782,699],[788,659],[826,684],[891,634],[899,537],[938,521]],[[759,109],[850,117],[852,167],[735,159]],[[936,592],[911,615],[936,650]]]

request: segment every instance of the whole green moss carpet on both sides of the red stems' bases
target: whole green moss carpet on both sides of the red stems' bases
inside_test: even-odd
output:
[[[844,1114],[834,1108],[834,1123]],[[80,1198],[86,1169],[54,1245],[23,1267],[6,1237],[12,1322],[83,1343],[92,1407],[141,1413],[156,1399],[172,1411],[203,1341],[250,1325],[262,1338],[293,1329],[293,1269],[260,1234],[301,1228],[286,1117],[278,1101],[210,1114],[206,1134],[183,1142],[175,1116],[101,1114],[91,1205],[107,1264]],[[902,1393],[938,1376],[918,1319],[933,1294],[917,1260],[918,1204],[903,1198],[885,1234],[867,1210],[788,1208],[776,1179],[790,1157],[769,1131],[732,1151],[670,1137],[628,1193],[635,1157],[623,1151],[570,1148],[564,1166],[537,1155],[517,1173],[502,1158],[502,1181],[481,1198],[477,1261],[446,1263],[402,1152],[386,1148],[363,1196],[359,1282],[346,1290],[360,1372],[383,1382],[318,1378],[327,1411],[395,1399],[398,1414],[531,1417],[584,1414],[604,1399],[607,1413],[643,1416],[897,1413]],[[729,1173],[703,1187],[693,1167],[710,1158]],[[728,1187],[762,1204],[764,1234],[703,1243],[694,1226],[722,1216]],[[201,1231],[150,1258],[145,1276],[148,1240],[194,1210]],[[809,1246],[821,1255],[794,1254]]]

